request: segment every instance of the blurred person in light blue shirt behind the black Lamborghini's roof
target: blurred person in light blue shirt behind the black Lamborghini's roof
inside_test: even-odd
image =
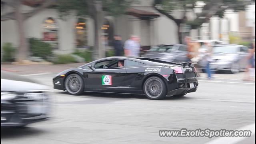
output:
[[[136,36],[130,36],[129,40],[124,43],[125,56],[140,56],[140,45]]]

